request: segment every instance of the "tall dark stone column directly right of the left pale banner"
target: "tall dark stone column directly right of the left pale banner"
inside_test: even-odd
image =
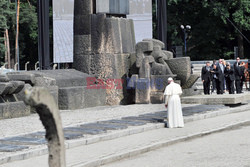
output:
[[[74,57],[75,69],[89,73],[91,53],[91,14],[93,0],[75,0],[74,4]]]

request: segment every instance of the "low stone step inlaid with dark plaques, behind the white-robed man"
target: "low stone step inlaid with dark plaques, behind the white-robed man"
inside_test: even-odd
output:
[[[208,113],[212,114],[219,109],[226,109],[229,111],[229,107],[223,105],[193,105],[190,107],[183,107],[183,115],[185,121],[190,122],[197,119],[203,119],[203,116],[210,117],[207,115]],[[201,116],[202,114],[206,114],[206,116]],[[163,128],[165,118],[166,112],[159,111],[139,116],[123,117],[122,119],[65,127],[64,137],[66,139],[66,148],[89,145],[122,136]],[[44,135],[44,131],[38,131],[0,139],[0,164],[47,154],[48,151],[45,145],[47,142]]]

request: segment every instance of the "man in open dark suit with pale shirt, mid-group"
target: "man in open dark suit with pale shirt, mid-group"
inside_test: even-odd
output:
[[[222,59],[219,59],[219,64],[216,66],[216,87],[217,87],[217,94],[223,94],[224,93],[224,71],[225,71],[225,66],[223,65]]]

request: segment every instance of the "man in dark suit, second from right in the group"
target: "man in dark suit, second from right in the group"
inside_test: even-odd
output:
[[[229,90],[229,94],[234,94],[234,69],[230,66],[230,63],[228,62],[225,68],[225,79],[227,88]]]

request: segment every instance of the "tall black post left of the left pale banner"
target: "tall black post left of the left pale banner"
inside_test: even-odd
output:
[[[38,0],[38,57],[39,67],[50,69],[49,55],[49,0]]]

